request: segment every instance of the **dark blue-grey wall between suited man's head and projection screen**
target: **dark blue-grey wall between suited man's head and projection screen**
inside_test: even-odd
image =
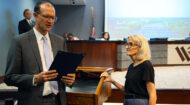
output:
[[[59,35],[73,33],[88,40],[91,33],[91,7],[94,7],[95,34],[101,35],[104,27],[104,0],[86,0],[86,5],[56,5],[58,21],[53,32]]]

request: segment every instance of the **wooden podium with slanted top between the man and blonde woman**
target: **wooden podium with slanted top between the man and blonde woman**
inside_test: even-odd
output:
[[[103,82],[104,78],[99,78],[99,74],[106,69],[108,68],[78,67],[82,76],[76,78],[72,88],[66,88],[67,105],[102,105],[111,95],[111,84]]]

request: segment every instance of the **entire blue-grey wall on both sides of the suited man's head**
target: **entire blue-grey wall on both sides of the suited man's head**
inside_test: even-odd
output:
[[[36,2],[41,0],[1,0],[0,2],[0,76],[4,75],[6,58],[11,39],[18,35],[18,22],[23,19],[23,10],[33,11]],[[48,0],[47,0],[48,1]],[[104,24],[104,0],[86,0],[85,6],[56,5],[58,21],[52,32],[62,35],[73,33],[80,39],[90,36],[91,7],[94,7],[96,35],[101,35]],[[33,19],[34,20],[34,19]]]

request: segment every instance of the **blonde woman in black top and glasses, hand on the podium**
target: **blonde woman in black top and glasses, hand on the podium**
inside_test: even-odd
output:
[[[148,41],[142,35],[128,37],[126,54],[133,63],[128,67],[125,86],[114,81],[107,72],[105,82],[111,82],[125,93],[124,105],[156,105],[156,89],[154,84],[154,68],[150,60]]]

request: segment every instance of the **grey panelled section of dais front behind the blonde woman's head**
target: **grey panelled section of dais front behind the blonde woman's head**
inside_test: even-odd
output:
[[[153,65],[163,65],[167,63],[168,44],[150,44],[151,62]],[[132,63],[131,58],[126,55],[125,45],[117,46],[117,69],[128,68]]]

